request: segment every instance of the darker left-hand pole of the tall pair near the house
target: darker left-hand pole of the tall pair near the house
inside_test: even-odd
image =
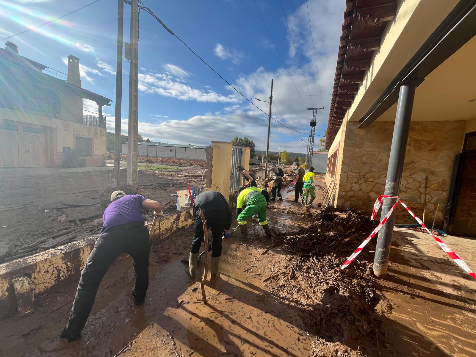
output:
[[[118,187],[120,183],[120,124],[122,109],[122,35],[124,32],[124,0],[118,0],[118,43],[116,62],[116,110],[114,125],[114,175],[112,187]],[[109,130],[110,131],[110,130]]]

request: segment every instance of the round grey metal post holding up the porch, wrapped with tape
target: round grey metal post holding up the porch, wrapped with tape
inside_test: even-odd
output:
[[[398,196],[400,191],[400,181],[402,178],[403,163],[405,162],[405,151],[407,150],[408,131],[410,129],[416,86],[416,82],[405,82],[400,86],[392,146],[388,160],[387,181],[385,184],[386,195]],[[394,203],[394,198],[384,199],[380,219],[387,215]],[[387,275],[388,256],[390,255],[394,223],[395,213],[388,218],[387,222],[380,229],[380,232],[378,232],[374,259],[374,274],[379,278],[385,278]]]

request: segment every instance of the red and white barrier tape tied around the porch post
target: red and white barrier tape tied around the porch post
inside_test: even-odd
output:
[[[435,237],[433,234],[431,234],[430,230],[428,228],[426,228],[425,224],[423,223],[423,221],[418,218],[408,207],[405,203],[403,203],[402,201],[400,201],[400,198],[398,198],[397,196],[388,196],[388,195],[381,195],[377,198],[377,200],[375,201],[375,204],[374,204],[374,209],[372,211],[372,219],[375,220],[375,218],[377,217],[377,212],[378,212],[378,209],[380,208],[380,206],[382,205],[382,202],[384,200],[384,198],[396,198],[396,201],[395,201],[395,204],[392,206],[392,208],[390,208],[390,210],[388,211],[387,215],[382,219],[382,221],[378,224],[378,226],[372,231],[372,233],[370,233],[370,235],[362,242],[362,244],[354,251],[354,253],[352,253],[352,255],[347,258],[347,260],[344,262],[344,264],[342,264],[342,266],[340,267],[341,269],[345,269],[350,263],[352,263],[354,261],[354,259],[357,257],[357,255],[362,251],[362,248],[364,248],[367,243],[370,241],[370,239],[374,238],[375,235],[377,234],[377,232],[380,230],[380,228],[382,228],[382,226],[385,224],[385,222],[387,221],[387,219],[390,217],[390,215],[392,214],[392,212],[394,211],[394,209],[397,207],[397,204],[398,202],[400,202],[402,204],[403,207],[405,207],[405,209],[408,211],[408,213],[410,213],[410,215],[415,218],[417,220],[417,222],[423,227],[426,229],[426,231],[428,232],[428,234],[430,236],[433,237],[433,239],[436,240],[436,242],[439,244],[439,246],[443,249],[443,251],[451,258],[455,261],[455,263],[457,265],[459,265],[464,271],[466,271],[466,273],[468,273],[471,277],[475,278],[476,279],[476,274],[466,265],[465,261],[463,259],[461,259],[461,257],[459,257],[456,252],[449,248],[440,238],[437,238]]]

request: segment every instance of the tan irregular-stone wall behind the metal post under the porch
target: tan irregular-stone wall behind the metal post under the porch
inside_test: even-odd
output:
[[[377,196],[385,190],[394,123],[376,121],[366,129],[357,129],[358,124],[347,122],[341,139],[336,207],[370,213]],[[443,221],[453,163],[461,148],[465,124],[465,121],[414,121],[410,125],[400,197],[422,218],[424,181],[428,176],[425,220],[433,221],[440,201],[436,227]],[[416,221],[398,206],[396,223]]]

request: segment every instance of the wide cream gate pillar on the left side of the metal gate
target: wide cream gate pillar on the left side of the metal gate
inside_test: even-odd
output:
[[[228,202],[233,145],[226,141],[212,141],[211,144],[213,148],[211,189],[220,192]]]

